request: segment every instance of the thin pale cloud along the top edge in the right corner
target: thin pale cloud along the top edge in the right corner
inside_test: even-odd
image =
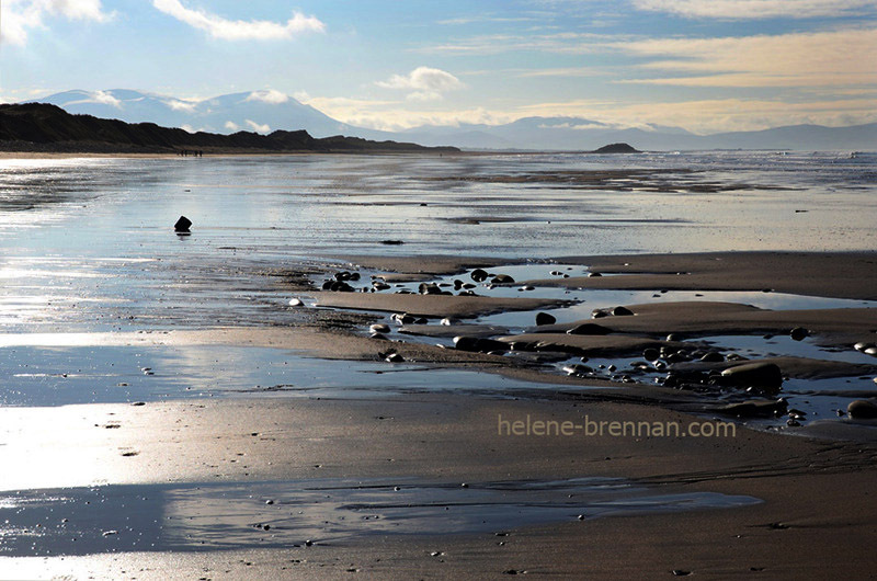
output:
[[[680,16],[726,20],[808,19],[858,14],[877,8],[874,0],[634,0],[641,10]]]

